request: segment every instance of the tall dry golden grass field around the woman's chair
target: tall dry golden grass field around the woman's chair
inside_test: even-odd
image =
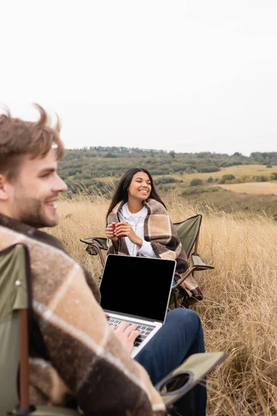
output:
[[[60,225],[50,230],[96,279],[100,261],[79,239],[105,235],[107,205],[98,196],[63,200]],[[201,213],[201,207],[177,198],[168,202],[168,210],[173,221]],[[207,351],[227,354],[208,376],[207,415],[277,415],[277,225],[266,216],[210,209],[199,252],[215,270],[196,275],[204,300],[195,309]]]

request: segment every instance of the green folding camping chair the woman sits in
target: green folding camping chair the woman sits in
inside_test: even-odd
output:
[[[198,270],[211,270],[214,268],[213,266],[208,266],[197,252],[201,223],[201,214],[187,218],[186,220],[181,221],[181,223],[174,223],[190,263],[190,268],[188,268],[186,274],[179,279],[175,286],[172,286],[169,304],[171,305],[174,303],[175,308],[179,306],[178,301],[182,298],[184,298],[184,302],[180,306],[189,307],[190,304],[193,304],[190,297],[186,297],[186,291],[179,287],[183,281],[187,279],[189,275],[194,276],[195,272]],[[99,255],[102,267],[104,268],[105,258],[102,252],[107,252],[107,239],[102,237],[91,237],[90,239],[80,239],[80,241],[87,244],[86,251],[91,254],[91,256]]]

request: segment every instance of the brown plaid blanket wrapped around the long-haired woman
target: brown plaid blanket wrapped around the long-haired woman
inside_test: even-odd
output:
[[[111,211],[107,218],[107,223],[118,223],[118,211],[123,206],[124,201],[118,202],[116,207]],[[157,257],[161,259],[174,259],[177,262],[175,280],[181,279],[189,268],[188,258],[181,241],[173,225],[168,211],[165,207],[152,198],[144,202],[148,209],[148,215],[144,222],[144,239],[150,241],[152,249]],[[108,240],[108,254],[116,253],[119,255],[128,255],[125,239],[118,239],[118,252],[115,252],[111,240]],[[139,254],[142,255],[142,254]],[[203,294],[195,279],[191,275],[180,285],[186,290],[189,297],[195,300],[202,300]]]

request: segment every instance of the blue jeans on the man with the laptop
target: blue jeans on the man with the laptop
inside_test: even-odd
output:
[[[191,354],[205,352],[199,315],[192,309],[168,312],[163,327],[135,357],[155,385]],[[175,404],[184,416],[206,415],[206,387],[197,385]]]

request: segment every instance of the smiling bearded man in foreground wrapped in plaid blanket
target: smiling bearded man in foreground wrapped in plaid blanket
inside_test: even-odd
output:
[[[127,323],[111,329],[93,277],[69,257],[60,241],[38,230],[57,225],[57,199],[66,184],[57,175],[64,152],[60,125],[51,127],[46,112],[37,108],[37,122],[0,115],[0,250],[21,242],[30,252],[30,401],[80,406],[86,415],[166,415],[148,376],[148,361],[153,365],[154,358],[148,352],[141,365],[129,354],[139,331]],[[157,339],[149,347],[153,356],[163,354],[168,360],[171,352],[171,368],[166,362],[164,368],[158,366],[166,374],[184,361],[186,351],[204,352],[197,313],[172,311],[172,320],[174,315],[178,329],[175,321],[168,323],[167,336],[161,332],[168,342]],[[178,339],[174,331],[180,332],[180,325],[184,333]],[[202,410],[190,413],[187,407],[186,415],[205,414],[204,388],[196,402]]]

